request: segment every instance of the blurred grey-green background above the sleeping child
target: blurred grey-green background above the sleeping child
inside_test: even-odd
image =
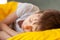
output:
[[[28,2],[39,6],[40,9],[57,9],[60,10],[60,0],[8,0],[18,2]]]

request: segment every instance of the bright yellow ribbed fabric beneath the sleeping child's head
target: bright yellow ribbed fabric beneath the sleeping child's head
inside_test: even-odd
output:
[[[22,33],[7,40],[60,40],[60,29]]]

